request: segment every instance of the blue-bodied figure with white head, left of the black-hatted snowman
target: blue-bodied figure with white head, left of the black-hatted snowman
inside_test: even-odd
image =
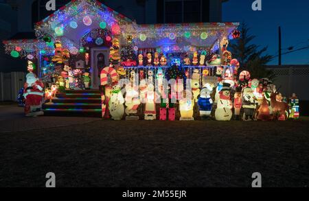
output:
[[[213,86],[205,84],[205,87],[201,90],[201,95],[198,97],[198,109],[202,119],[208,119],[211,117],[212,104],[214,103],[211,99],[211,93]]]

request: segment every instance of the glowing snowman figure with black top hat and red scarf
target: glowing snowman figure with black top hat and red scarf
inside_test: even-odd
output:
[[[231,103],[231,88],[228,83],[223,83],[223,87],[220,91],[220,99],[218,100],[215,117],[217,121],[230,121],[233,113],[233,105]]]

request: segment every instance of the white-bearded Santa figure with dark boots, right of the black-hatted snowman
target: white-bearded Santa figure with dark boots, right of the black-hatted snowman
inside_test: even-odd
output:
[[[253,94],[252,88],[244,88],[242,90],[242,108],[244,108],[243,121],[252,121],[255,108],[258,104],[258,100]]]

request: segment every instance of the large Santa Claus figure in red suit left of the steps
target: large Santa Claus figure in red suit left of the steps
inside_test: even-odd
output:
[[[25,115],[26,117],[36,117],[44,115],[42,108],[42,100],[44,95],[44,84],[34,73],[26,75],[26,83],[23,96],[25,97]]]

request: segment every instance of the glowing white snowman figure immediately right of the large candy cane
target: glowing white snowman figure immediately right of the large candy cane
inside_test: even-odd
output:
[[[111,114],[111,118],[114,120],[121,120],[124,116],[124,97],[119,85],[115,85],[112,88],[111,98],[108,102],[108,110]]]

